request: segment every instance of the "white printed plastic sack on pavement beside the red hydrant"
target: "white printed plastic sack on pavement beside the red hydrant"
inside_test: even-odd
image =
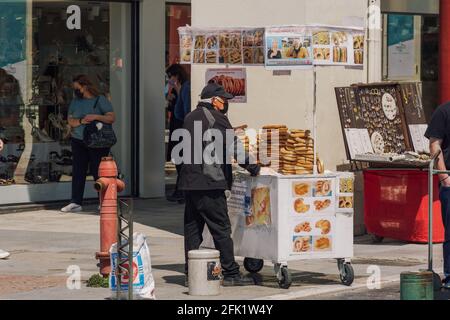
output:
[[[128,250],[126,247],[125,250]],[[110,249],[111,253],[111,275],[109,277],[109,287],[112,298],[117,297],[117,243]],[[128,263],[126,264],[128,266]],[[128,277],[122,276],[120,299],[128,298]],[[152,262],[150,250],[146,237],[142,233],[133,234],[133,299],[155,300],[155,281],[152,275]]]

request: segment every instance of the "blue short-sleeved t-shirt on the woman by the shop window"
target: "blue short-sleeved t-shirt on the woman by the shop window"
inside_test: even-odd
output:
[[[74,98],[69,106],[69,116],[74,119],[83,119],[88,114],[105,115],[109,112],[113,112],[111,102],[106,99],[105,96],[98,97],[97,106],[94,109],[97,98],[92,99],[78,99]],[[83,140],[85,124],[79,127],[72,128],[72,138]]]

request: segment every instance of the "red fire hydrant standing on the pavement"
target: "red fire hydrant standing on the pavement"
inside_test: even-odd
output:
[[[105,157],[98,169],[99,179],[94,187],[100,193],[100,273],[107,277],[111,273],[109,249],[117,242],[117,193],[125,189],[125,183],[117,179],[116,162]]]

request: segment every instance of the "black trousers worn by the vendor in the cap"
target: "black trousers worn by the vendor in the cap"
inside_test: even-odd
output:
[[[239,265],[234,260],[231,223],[228,217],[227,199],[223,190],[187,191],[184,211],[184,251],[186,273],[188,272],[188,252],[198,250],[203,242],[205,224],[220,251],[220,263],[224,276],[239,274]]]

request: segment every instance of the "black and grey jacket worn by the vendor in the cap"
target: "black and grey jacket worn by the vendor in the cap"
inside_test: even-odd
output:
[[[207,108],[215,119],[214,129],[219,130],[224,137],[223,141],[223,159],[222,159],[222,171],[225,179],[216,181],[211,179],[209,176],[205,175],[203,172],[204,160],[201,157],[202,164],[195,164],[194,162],[194,140],[197,140],[197,144],[199,143],[199,137],[195,137],[195,122],[201,122],[201,137],[203,137],[204,133],[209,129],[209,121],[206,118],[206,115],[202,108]],[[234,158],[237,158],[237,148],[233,148],[233,142],[238,139],[234,136],[234,141],[226,141],[226,130],[232,130],[233,127],[228,120],[228,117],[224,114],[217,111],[210,103],[200,102],[197,108],[189,113],[184,120],[184,129],[189,131],[191,143],[191,161],[189,164],[183,163],[180,173],[180,180],[178,188],[182,191],[206,191],[206,190],[230,190],[233,184],[233,175],[232,175],[232,166],[231,164],[227,164],[227,157],[233,155]],[[200,137],[200,139],[202,139]],[[200,140],[201,141],[201,140]],[[228,145],[227,145],[228,142]],[[231,142],[231,145],[230,145]],[[202,145],[202,154],[205,150],[205,146]],[[232,150],[232,154],[227,152],[227,150]],[[228,161],[229,163],[230,161]],[[241,167],[250,172],[250,174],[256,176],[259,174],[260,166],[257,164],[249,164],[250,160],[248,155],[245,156],[245,163],[240,164]]]

